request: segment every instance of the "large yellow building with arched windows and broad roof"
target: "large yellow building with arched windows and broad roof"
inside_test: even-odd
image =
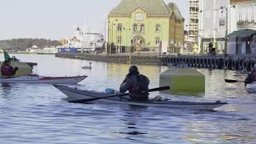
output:
[[[110,11],[108,22],[108,42],[125,46],[126,52],[165,46],[174,53],[184,45],[184,18],[174,3],[122,0]]]

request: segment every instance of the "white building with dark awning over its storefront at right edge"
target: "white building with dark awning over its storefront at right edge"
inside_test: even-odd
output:
[[[227,54],[256,54],[256,1],[230,0]]]

